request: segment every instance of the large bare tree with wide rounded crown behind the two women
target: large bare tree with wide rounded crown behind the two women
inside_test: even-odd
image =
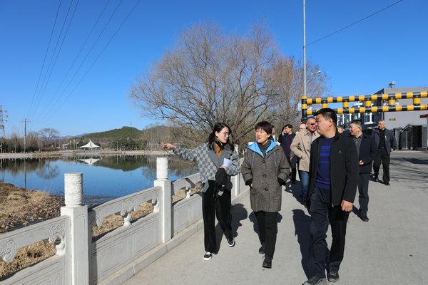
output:
[[[143,116],[187,128],[195,141],[206,138],[216,122],[225,122],[239,143],[255,123],[281,113],[275,104],[287,92],[297,96],[286,89],[302,79],[277,74],[292,73],[281,70],[296,68],[289,61],[293,58],[280,54],[263,24],[253,25],[245,36],[226,35],[210,22],[195,24],[180,33],[146,76],[136,79],[130,97]]]

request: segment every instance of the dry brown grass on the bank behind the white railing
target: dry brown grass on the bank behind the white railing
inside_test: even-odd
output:
[[[191,194],[201,190],[200,183],[191,189]],[[185,190],[178,190],[173,195],[173,203],[185,198]],[[26,225],[51,217],[58,217],[63,198],[55,197],[41,191],[24,190],[9,183],[0,182],[0,234],[7,232],[17,224]],[[153,204],[144,202],[137,211],[131,212],[131,221],[153,212]],[[93,227],[93,237],[112,229],[121,227],[123,218],[120,214],[111,214],[103,219],[101,227]],[[19,249],[12,262],[0,261],[0,278],[12,274],[26,266],[52,257],[55,254],[54,243],[45,241],[30,244]]]

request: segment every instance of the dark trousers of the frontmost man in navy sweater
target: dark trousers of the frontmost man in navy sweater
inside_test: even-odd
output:
[[[340,206],[332,207],[330,190],[315,187],[310,197],[310,276],[325,277],[325,269],[339,271],[345,252],[346,223],[349,212]],[[327,229],[330,222],[332,229],[332,246],[327,248]],[[326,266],[327,265],[327,266]]]

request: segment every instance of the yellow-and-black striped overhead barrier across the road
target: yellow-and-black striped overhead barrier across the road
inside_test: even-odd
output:
[[[428,92],[423,91],[325,98],[302,97],[302,118],[306,118],[308,115],[313,115],[317,110],[319,110],[307,110],[307,106],[313,104],[321,104],[321,108],[328,108],[329,103],[342,103],[343,108],[334,109],[337,114],[428,110],[427,104],[421,104],[421,98],[428,98]],[[398,99],[413,99],[413,105],[395,105],[395,100]],[[388,100],[388,105],[372,106],[372,101],[377,100]],[[359,101],[364,101],[365,107],[350,108],[350,102]]]

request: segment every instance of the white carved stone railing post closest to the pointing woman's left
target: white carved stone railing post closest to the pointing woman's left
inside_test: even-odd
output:
[[[171,182],[168,180],[168,157],[156,158],[156,180],[154,186],[162,187],[161,215],[162,215],[162,242],[171,239],[172,219],[171,219]]]

